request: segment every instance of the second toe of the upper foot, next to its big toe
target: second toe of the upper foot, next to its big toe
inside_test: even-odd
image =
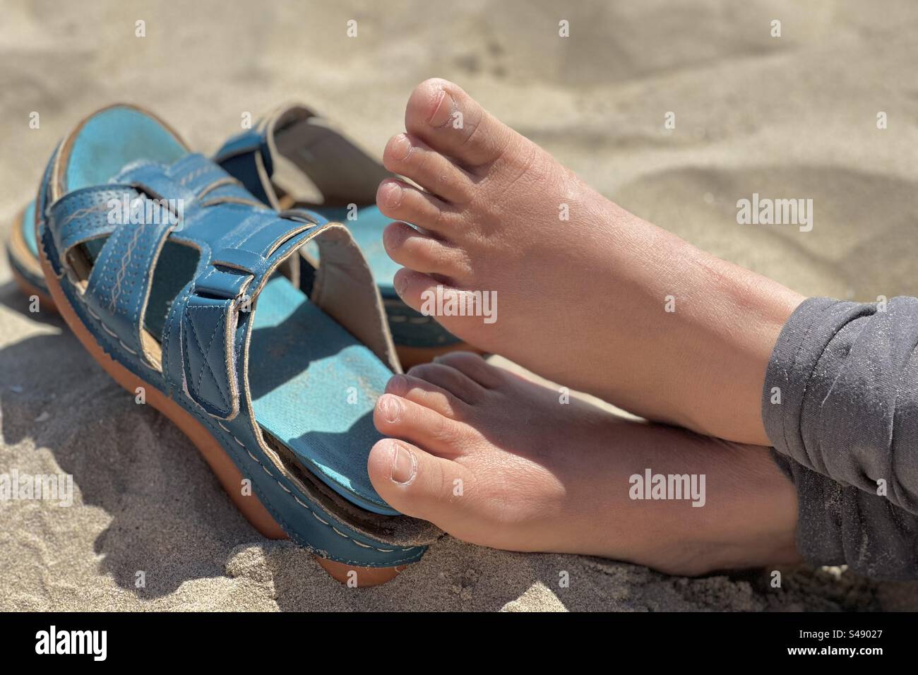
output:
[[[383,163],[393,174],[404,175],[428,192],[453,204],[467,203],[474,191],[472,177],[452,160],[418,138],[399,133],[386,144]]]

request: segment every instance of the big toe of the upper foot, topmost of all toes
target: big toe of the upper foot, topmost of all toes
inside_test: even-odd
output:
[[[441,79],[415,87],[405,110],[405,129],[470,169],[497,160],[514,134],[458,85]]]

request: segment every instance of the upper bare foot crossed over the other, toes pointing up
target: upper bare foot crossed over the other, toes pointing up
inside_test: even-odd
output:
[[[411,307],[440,284],[496,292],[493,323],[437,318],[649,419],[767,444],[765,365],[799,296],[616,206],[455,84],[421,83],[405,126],[384,162],[424,190],[386,180],[376,201],[423,228],[384,240]]]

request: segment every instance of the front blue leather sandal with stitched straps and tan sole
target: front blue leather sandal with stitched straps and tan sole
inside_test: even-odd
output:
[[[361,586],[420,559],[439,531],[367,475],[375,399],[400,366],[346,228],[266,208],[129,106],[61,142],[37,203],[41,267],[71,330],[185,431],[260,532]],[[307,295],[308,243],[321,264]]]

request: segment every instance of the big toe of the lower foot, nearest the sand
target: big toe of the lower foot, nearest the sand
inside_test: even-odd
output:
[[[390,506],[438,524],[450,520],[457,486],[461,488],[471,478],[466,467],[451,459],[390,438],[373,446],[367,469],[376,492]]]

